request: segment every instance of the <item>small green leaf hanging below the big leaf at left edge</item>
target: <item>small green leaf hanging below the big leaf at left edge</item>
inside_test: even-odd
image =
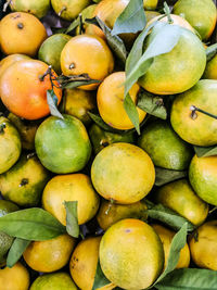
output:
[[[7,267],[12,268],[16,264],[16,262],[18,262],[29,243],[29,240],[20,238],[16,238],[14,240],[7,257]]]

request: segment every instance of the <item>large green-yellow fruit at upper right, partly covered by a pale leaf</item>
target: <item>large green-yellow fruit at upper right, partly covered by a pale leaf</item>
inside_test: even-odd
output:
[[[164,25],[158,22],[146,40],[146,48]],[[179,29],[180,38],[175,48],[155,56],[145,75],[139,79],[145,90],[156,94],[180,93],[193,87],[203,75],[206,65],[203,43],[189,29]]]

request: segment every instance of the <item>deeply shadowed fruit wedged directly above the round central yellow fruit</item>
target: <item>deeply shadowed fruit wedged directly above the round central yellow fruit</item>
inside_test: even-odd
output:
[[[118,134],[105,131],[97,124],[93,124],[89,130],[90,140],[92,142],[93,151],[95,155],[105,147],[113,143],[125,142],[125,143],[133,143],[135,142],[135,134]]]

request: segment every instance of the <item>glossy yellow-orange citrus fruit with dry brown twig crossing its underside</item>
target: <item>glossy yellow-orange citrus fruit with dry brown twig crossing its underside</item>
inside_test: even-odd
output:
[[[113,54],[103,39],[92,35],[73,37],[61,53],[61,68],[64,75],[88,74],[95,80],[103,80],[113,72]],[[80,86],[80,89],[94,90],[99,84]]]

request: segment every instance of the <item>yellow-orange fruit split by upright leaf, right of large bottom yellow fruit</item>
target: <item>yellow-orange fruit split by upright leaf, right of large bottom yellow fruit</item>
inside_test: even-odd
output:
[[[168,228],[165,228],[161,225],[152,225],[156,234],[159,236],[159,239],[163,243],[164,247],[164,256],[165,256],[165,263],[164,263],[164,268],[166,268],[167,263],[168,263],[168,257],[169,257],[169,250],[171,245],[171,241],[176,232],[174,230],[170,230]],[[190,250],[188,243],[181,249],[180,251],[180,257],[178,261],[178,264],[176,268],[188,268],[190,264]]]

